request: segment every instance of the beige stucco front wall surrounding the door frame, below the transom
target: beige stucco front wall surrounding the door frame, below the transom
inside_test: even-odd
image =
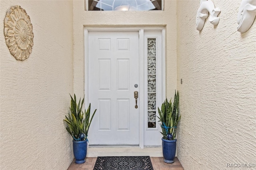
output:
[[[176,89],[176,0],[164,1],[164,11],[85,11],[84,0],[74,0],[74,92],[84,91],[84,26],[166,27],[166,94]]]

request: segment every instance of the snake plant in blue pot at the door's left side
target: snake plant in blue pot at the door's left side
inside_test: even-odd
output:
[[[85,162],[86,154],[87,154],[87,135],[88,130],[90,127],[90,124],[92,122],[92,118],[94,117],[94,114],[96,113],[96,110],[92,114],[92,117],[90,118],[90,110],[91,110],[91,104],[89,104],[88,109],[82,111],[82,106],[84,104],[84,98],[81,98],[76,103],[76,95],[74,94],[74,99],[70,95],[71,101],[70,101],[70,111],[68,113],[68,116],[65,116],[66,119],[64,121],[66,122],[66,130],[70,133],[70,135],[73,138],[73,152],[74,157],[76,159],[77,164],[82,164]]]

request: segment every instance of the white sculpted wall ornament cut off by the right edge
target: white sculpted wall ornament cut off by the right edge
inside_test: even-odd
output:
[[[246,32],[252,26],[256,16],[256,0],[242,0],[237,15],[237,30]]]

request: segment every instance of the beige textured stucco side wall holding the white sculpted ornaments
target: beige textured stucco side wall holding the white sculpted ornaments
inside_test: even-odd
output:
[[[213,2],[220,22],[213,26],[207,19],[201,32],[200,1],[177,3],[178,158],[185,170],[256,163],[256,23],[240,34],[241,0]]]

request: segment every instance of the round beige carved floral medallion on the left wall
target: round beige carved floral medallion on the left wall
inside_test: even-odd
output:
[[[33,27],[30,17],[20,6],[12,6],[4,20],[6,45],[16,60],[23,61],[29,57],[34,45]]]

